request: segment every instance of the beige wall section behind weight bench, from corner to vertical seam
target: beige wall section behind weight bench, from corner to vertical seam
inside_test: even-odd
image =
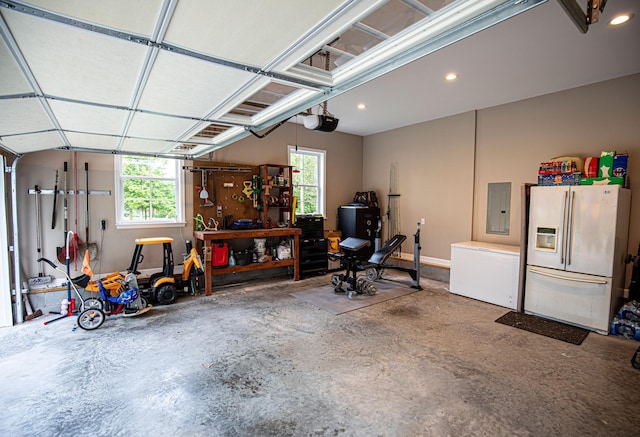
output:
[[[474,119],[468,112],[365,137],[363,185],[378,193],[383,214],[391,163],[398,163],[400,232],[409,237],[403,252],[412,252],[422,218],[420,253],[436,264],[450,259],[452,242],[471,239]]]

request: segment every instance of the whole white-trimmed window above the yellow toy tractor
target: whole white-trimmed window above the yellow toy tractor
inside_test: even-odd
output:
[[[116,155],[116,227],[184,226],[182,161]]]

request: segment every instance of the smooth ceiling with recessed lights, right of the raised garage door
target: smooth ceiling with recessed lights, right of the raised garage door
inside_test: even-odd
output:
[[[608,26],[621,12],[635,17],[623,26]],[[460,75],[455,83],[444,80],[449,71]],[[640,73],[639,0],[609,0],[586,34],[551,0],[342,94],[328,106],[340,119],[338,130],[370,135],[635,73]],[[366,111],[356,109],[360,102]]]

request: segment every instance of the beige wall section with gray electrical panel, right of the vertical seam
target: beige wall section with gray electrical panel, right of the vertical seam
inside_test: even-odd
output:
[[[537,183],[540,162],[558,156],[629,153],[632,197],[640,195],[640,75],[553,93],[478,112],[473,239],[520,244],[520,186]],[[487,184],[511,182],[511,232],[486,233]],[[632,201],[629,250],[640,226]]]

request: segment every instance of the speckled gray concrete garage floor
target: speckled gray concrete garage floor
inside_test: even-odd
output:
[[[289,296],[328,282],[0,329],[0,435],[637,435],[636,341],[531,334],[426,279],[339,316]]]

